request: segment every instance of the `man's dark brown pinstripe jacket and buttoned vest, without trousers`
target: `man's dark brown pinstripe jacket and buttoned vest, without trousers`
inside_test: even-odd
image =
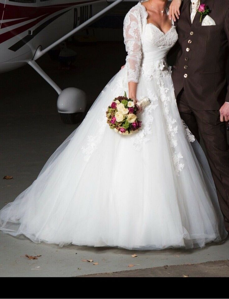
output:
[[[190,19],[190,0],[184,0],[176,22],[180,47],[173,66],[175,96],[184,88],[190,107],[218,110],[229,102],[226,64],[229,53],[229,0],[202,0],[214,26],[202,26],[197,12]]]

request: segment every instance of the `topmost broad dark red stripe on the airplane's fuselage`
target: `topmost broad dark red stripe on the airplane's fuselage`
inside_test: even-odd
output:
[[[44,15],[45,13],[54,13],[67,7],[81,5],[85,3],[90,4],[92,2],[98,2],[98,1],[99,0],[90,0],[90,1],[84,0],[80,2],[56,4],[56,5],[41,6],[41,7],[6,5],[3,20],[28,17],[28,15],[31,16],[31,18],[36,18],[36,17],[40,17],[41,15]],[[4,9],[4,4],[0,4],[0,11],[2,9]]]

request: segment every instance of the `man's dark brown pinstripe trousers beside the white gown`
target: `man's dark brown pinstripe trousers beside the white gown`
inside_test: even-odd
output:
[[[229,146],[226,123],[220,121],[219,110],[194,110],[188,105],[191,102],[192,99],[188,98],[183,88],[177,97],[179,113],[198,142],[199,133],[203,139],[224,224],[229,232]]]

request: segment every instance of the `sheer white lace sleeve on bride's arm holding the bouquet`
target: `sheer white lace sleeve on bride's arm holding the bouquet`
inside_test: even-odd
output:
[[[139,80],[141,65],[140,16],[136,11],[129,11],[124,19],[124,43],[126,45],[126,66],[128,82]]]

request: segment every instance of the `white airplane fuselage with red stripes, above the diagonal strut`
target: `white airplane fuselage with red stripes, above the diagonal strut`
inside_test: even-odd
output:
[[[17,69],[107,6],[105,0],[0,0],[0,73]]]

